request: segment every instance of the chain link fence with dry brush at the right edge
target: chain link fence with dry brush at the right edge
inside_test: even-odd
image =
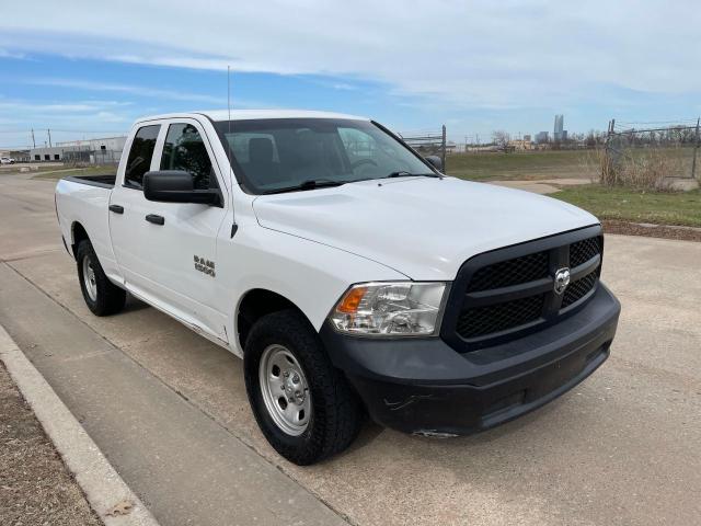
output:
[[[687,124],[610,121],[601,158],[601,183],[669,190],[675,181],[692,181],[701,176],[700,145],[699,119]]]

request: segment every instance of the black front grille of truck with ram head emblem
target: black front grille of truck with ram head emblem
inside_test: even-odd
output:
[[[452,286],[441,336],[460,351],[508,341],[578,310],[596,290],[604,238],[600,227],[480,254]],[[562,294],[554,275],[571,270]]]

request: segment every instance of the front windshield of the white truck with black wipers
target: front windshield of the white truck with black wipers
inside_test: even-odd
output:
[[[215,124],[248,192],[267,194],[436,173],[367,121],[272,118]]]

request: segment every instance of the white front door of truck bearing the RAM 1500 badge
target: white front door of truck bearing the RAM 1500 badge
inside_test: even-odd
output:
[[[140,238],[139,253],[131,255],[128,274],[141,294],[149,296],[146,299],[195,329],[226,341],[226,317],[217,309],[216,249],[229,195],[212,153],[196,121],[163,122],[151,170],[186,171],[195,188],[219,188],[223,205],[151,202],[139,188],[129,203],[133,220],[127,224],[134,230],[123,236],[131,236],[127,244],[134,243],[136,232]],[[118,241],[115,239],[114,243]]]

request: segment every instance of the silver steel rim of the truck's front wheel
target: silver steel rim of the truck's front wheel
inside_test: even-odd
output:
[[[311,418],[311,393],[295,355],[283,345],[268,345],[261,356],[258,380],[275,425],[288,435],[301,435]]]

